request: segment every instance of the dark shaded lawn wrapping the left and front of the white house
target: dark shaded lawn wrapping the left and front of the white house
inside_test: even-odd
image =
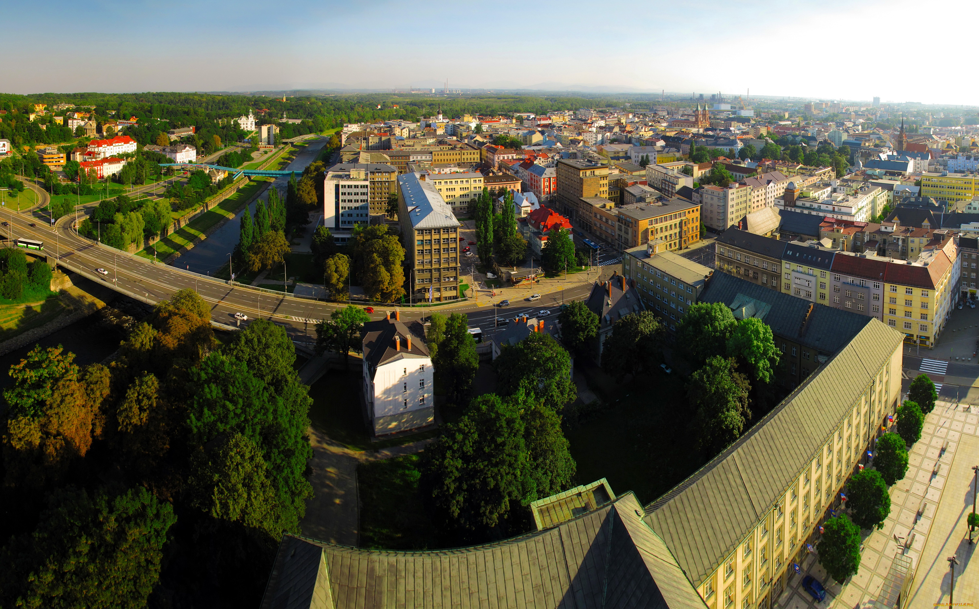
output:
[[[353,450],[403,445],[438,435],[438,431],[431,430],[393,440],[371,442],[363,421],[361,365],[361,359],[351,355],[348,370],[330,370],[309,387],[309,397],[312,398],[309,421],[314,428]]]

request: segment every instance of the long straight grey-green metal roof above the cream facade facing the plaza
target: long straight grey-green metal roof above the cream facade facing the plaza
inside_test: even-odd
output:
[[[903,341],[903,334],[870,319],[737,442],[646,506],[646,524],[666,541],[694,586],[722,564],[799,478]]]

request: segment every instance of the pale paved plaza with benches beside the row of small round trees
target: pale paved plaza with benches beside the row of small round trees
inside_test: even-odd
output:
[[[979,465],[979,408],[939,401],[925,418],[921,439],[909,451],[908,473],[890,489],[891,514],[884,528],[863,531],[861,566],[845,585],[829,581],[816,554],[803,561],[776,607],[790,609],[884,609],[895,607],[903,567],[916,569],[909,601],[902,607],[927,608],[949,602],[949,563],[956,555],[956,606],[979,603],[979,561],[971,561],[966,514],[972,510],[972,466]],[[975,534],[979,537],[979,533]],[[814,543],[815,545],[815,543]],[[816,603],[802,587],[812,575],[826,586]],[[830,584],[832,584],[830,586]]]

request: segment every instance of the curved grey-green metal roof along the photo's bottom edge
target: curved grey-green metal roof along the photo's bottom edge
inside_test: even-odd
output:
[[[627,492],[556,527],[486,545],[402,552],[286,535],[261,609],[706,609]]]

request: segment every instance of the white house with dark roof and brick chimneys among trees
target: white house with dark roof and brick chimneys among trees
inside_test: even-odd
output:
[[[435,423],[435,367],[424,329],[399,311],[364,324],[363,392],[375,436]]]

